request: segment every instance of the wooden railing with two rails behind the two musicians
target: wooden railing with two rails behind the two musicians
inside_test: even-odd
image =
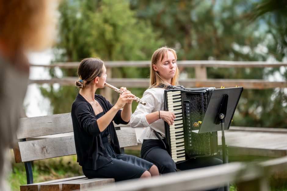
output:
[[[287,67],[287,62],[261,62],[261,61],[177,61],[180,71],[184,68],[194,68],[194,79],[181,79],[180,85],[184,87],[235,87],[242,86],[244,89],[269,89],[269,88],[287,88],[286,81],[268,81],[265,79],[210,79],[207,76],[207,68],[279,68]],[[49,68],[77,68],[79,62],[58,62],[50,65],[31,65],[32,67],[49,67]],[[150,61],[106,61],[107,83],[116,87],[139,87],[147,88],[149,79],[144,78],[111,78],[111,68],[119,67],[149,67]],[[147,74],[148,75],[148,74]],[[60,83],[62,85],[74,85],[76,77],[63,77],[52,79],[30,80],[30,83]],[[104,88],[101,92],[107,99],[111,98],[111,90]]]

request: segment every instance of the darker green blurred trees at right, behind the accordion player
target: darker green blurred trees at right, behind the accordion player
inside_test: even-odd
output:
[[[282,61],[287,12],[286,1],[271,6],[277,2],[133,0],[131,7],[139,18],[151,20],[166,45],[176,48],[179,60]],[[267,8],[273,16],[263,15],[269,14]],[[207,72],[209,78],[268,79],[278,70],[208,68]],[[194,77],[192,69],[183,72]],[[283,90],[244,90],[232,125],[286,127],[286,102]]]

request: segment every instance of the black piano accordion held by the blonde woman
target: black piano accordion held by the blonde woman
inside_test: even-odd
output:
[[[165,122],[165,138],[175,163],[219,152],[217,131],[197,133],[215,88],[164,91],[164,110],[175,114],[173,125]]]

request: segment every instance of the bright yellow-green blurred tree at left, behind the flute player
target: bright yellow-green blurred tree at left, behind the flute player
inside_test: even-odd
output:
[[[127,1],[63,0],[59,12],[55,61],[80,61],[85,57],[100,57],[106,61],[147,60],[154,48],[162,44],[151,24],[137,19]],[[62,72],[63,76],[75,76],[76,70],[62,69]],[[136,68],[121,68],[113,73],[114,77],[135,77],[142,72]],[[54,70],[50,74],[56,76]],[[71,111],[77,93],[75,87],[50,86],[42,87],[41,91],[50,99],[54,114]]]

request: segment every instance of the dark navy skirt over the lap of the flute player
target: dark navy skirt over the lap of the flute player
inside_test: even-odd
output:
[[[139,157],[120,154],[117,159],[97,170],[83,168],[83,173],[87,178],[114,178],[115,181],[122,181],[140,178],[152,165]]]

